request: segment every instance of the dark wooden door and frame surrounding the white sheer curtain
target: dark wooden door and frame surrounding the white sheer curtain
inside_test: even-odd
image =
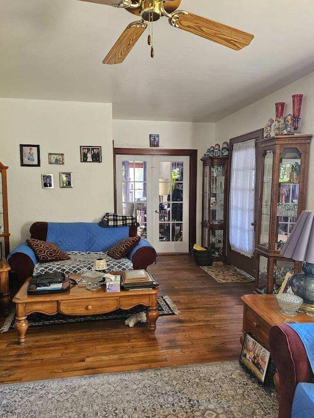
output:
[[[228,172],[229,172],[229,181],[228,181],[228,203],[227,203],[227,214],[228,214],[228,224],[227,224],[227,263],[231,264],[235,267],[237,267],[240,270],[245,271],[246,273],[250,274],[252,277],[256,277],[256,253],[254,250],[254,255],[252,257],[252,266],[254,265],[253,269],[247,269],[247,260],[248,257],[236,253],[236,261],[235,261],[235,256],[234,256],[234,252],[231,250],[231,246],[230,246],[230,242],[229,242],[229,210],[230,210],[230,180],[231,180],[231,162],[232,162],[232,152],[233,152],[233,147],[235,144],[238,144],[239,142],[244,142],[244,141],[249,141],[251,139],[255,139],[256,140],[256,146],[255,146],[255,205],[254,205],[254,217],[255,217],[255,222],[258,219],[258,211],[259,211],[259,188],[260,188],[260,173],[261,173],[261,161],[259,161],[259,155],[260,155],[260,141],[263,139],[264,137],[264,130],[263,129],[258,129],[256,131],[252,131],[249,132],[247,134],[244,135],[239,135],[236,136],[235,138],[231,138],[230,139],[230,152],[229,152],[229,167],[228,167]],[[256,246],[256,238],[258,236],[258,231],[257,231],[257,224],[255,225],[255,246]]]

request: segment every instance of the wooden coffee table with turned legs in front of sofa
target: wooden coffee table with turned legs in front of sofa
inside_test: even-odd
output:
[[[111,272],[121,274],[121,272]],[[78,279],[80,274],[70,274],[70,278]],[[107,293],[105,286],[92,292],[83,287],[73,286],[68,292],[52,295],[27,295],[27,286],[30,278],[26,280],[19,292],[14,296],[16,303],[16,322],[14,328],[18,334],[18,343],[24,344],[28,328],[27,315],[42,312],[47,315],[61,313],[64,315],[97,315],[113,312],[117,309],[130,309],[136,305],[149,307],[147,319],[149,329],[155,332],[158,318],[157,294],[159,289],[136,290],[116,293]]]

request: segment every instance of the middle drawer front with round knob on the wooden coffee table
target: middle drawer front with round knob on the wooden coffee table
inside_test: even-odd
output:
[[[106,299],[60,300],[58,311],[65,315],[105,314],[118,309],[118,297]]]

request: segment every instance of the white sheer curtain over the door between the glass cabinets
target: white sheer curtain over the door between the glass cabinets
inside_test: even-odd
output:
[[[232,151],[229,242],[231,249],[254,252],[255,139],[235,144]]]

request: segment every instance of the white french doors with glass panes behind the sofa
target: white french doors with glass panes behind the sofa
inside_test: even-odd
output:
[[[189,251],[189,157],[116,155],[117,213],[157,252]]]

